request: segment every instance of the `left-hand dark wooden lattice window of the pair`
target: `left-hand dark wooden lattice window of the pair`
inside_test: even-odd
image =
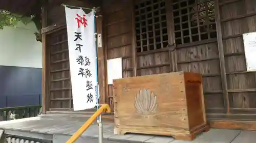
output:
[[[148,0],[135,5],[137,52],[165,48],[168,45],[164,0]]]

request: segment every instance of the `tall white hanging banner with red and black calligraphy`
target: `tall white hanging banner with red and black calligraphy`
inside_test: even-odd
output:
[[[97,105],[94,12],[66,6],[65,12],[74,110],[93,108]]]

